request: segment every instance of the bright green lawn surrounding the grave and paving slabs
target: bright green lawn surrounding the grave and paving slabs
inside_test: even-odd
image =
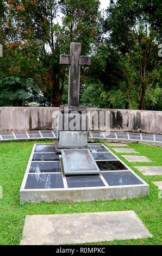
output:
[[[113,242],[93,243],[93,245],[161,245],[162,244],[162,199],[158,197],[158,187],[152,181],[161,181],[161,176],[144,176],[133,166],[153,165],[162,166],[162,148],[146,144],[130,144],[129,147],[140,152],[140,155],[149,157],[151,163],[128,163],[122,154],[114,153],[128,164],[150,186],[147,197],[126,200],[95,201],[90,203],[26,203],[20,205],[19,190],[27,167],[34,143],[51,141],[29,142],[1,142],[0,143],[0,185],[3,187],[3,198],[0,199],[0,245],[18,245],[22,236],[24,218],[34,214],[67,214],[77,212],[98,211],[126,211],[134,210],[153,235],[148,239],[117,240]],[[110,149],[112,147],[109,147]],[[125,154],[127,155],[127,153]]]

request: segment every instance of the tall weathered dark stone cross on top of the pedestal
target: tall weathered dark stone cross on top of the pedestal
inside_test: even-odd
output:
[[[60,55],[60,64],[70,65],[68,81],[68,104],[79,106],[80,65],[90,65],[91,58],[80,56],[81,44],[71,42],[70,55]]]

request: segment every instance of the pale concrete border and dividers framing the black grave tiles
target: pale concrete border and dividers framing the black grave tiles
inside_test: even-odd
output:
[[[47,143],[40,143],[39,145],[45,145]],[[109,152],[116,157],[116,160],[120,161],[127,170],[124,172],[132,172],[136,178],[138,178],[143,184],[138,185],[123,185],[123,186],[109,186],[107,181],[102,176],[102,172],[99,177],[102,179],[105,187],[78,187],[78,188],[68,188],[66,178],[63,175],[63,183],[64,188],[48,188],[48,189],[25,189],[30,164],[33,159],[33,154],[35,151],[35,147],[38,143],[34,144],[32,154],[30,155],[29,162],[27,165],[26,173],[24,174],[24,178],[22,181],[22,185],[20,188],[20,202],[32,202],[32,203],[40,203],[40,202],[90,202],[93,200],[113,200],[113,199],[126,199],[126,198],[134,198],[142,195],[147,195],[149,193],[149,185],[140,178],[138,174],[136,174],[132,169],[130,169],[127,164],[125,164],[122,160],[119,159],[113,152],[111,152],[104,144],[95,144],[95,145],[103,145],[104,148],[108,149]],[[48,145],[48,144],[47,144]],[[52,145],[52,144],[50,144]],[[90,144],[89,144],[90,145]],[[61,156],[60,156],[61,160]],[[96,160],[101,161],[101,160]],[[111,160],[102,160],[102,161],[111,161]],[[36,161],[34,161],[36,162]],[[40,162],[40,161],[38,161]],[[105,172],[115,172],[114,170],[108,170]],[[123,172],[123,170],[117,170],[117,172]],[[41,173],[43,174],[43,173]],[[46,173],[47,174],[47,173]]]

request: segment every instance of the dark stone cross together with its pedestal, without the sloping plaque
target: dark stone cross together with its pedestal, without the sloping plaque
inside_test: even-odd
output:
[[[80,65],[90,65],[90,57],[80,56],[81,45],[72,42],[70,55],[61,55],[60,64],[70,65],[68,104],[59,109],[56,152],[63,149],[88,148],[88,115],[86,107],[79,107]]]

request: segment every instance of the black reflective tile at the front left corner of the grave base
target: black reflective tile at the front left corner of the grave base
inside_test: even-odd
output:
[[[25,189],[64,188],[63,177],[58,174],[28,174]]]

